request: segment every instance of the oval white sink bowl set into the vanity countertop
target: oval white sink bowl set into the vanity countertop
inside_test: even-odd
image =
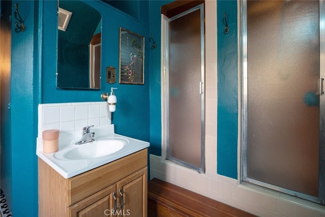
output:
[[[124,138],[102,137],[81,145],[69,145],[54,153],[54,158],[60,160],[101,158],[121,150],[126,144],[128,144],[128,140]]]

